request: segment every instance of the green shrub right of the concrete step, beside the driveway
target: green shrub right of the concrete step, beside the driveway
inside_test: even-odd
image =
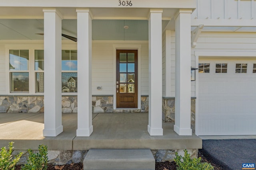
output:
[[[190,154],[185,149],[184,157],[175,152],[174,161],[177,164],[177,170],[214,170],[213,166],[207,162],[201,162],[201,158],[190,158]]]

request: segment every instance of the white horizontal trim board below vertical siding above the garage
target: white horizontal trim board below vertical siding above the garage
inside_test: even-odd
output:
[[[256,27],[256,20],[228,20],[228,19],[192,19],[191,26],[203,24],[205,27]]]

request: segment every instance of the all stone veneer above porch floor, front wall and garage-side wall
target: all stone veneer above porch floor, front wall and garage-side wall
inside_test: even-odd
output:
[[[196,100],[191,99],[191,128],[195,132]],[[148,112],[148,96],[141,96],[141,109],[113,109],[113,96],[92,96],[92,113]],[[0,96],[0,113],[44,113],[44,96]],[[62,96],[62,113],[77,113],[77,96]],[[162,98],[162,119],[175,121],[175,99]]]

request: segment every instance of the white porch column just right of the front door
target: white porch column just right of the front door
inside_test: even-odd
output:
[[[162,9],[150,9],[148,133],[162,136]]]

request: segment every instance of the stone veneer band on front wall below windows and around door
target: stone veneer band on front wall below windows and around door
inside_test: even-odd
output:
[[[148,96],[141,109],[113,109],[113,96],[92,96],[92,113],[148,112]],[[0,96],[0,113],[44,113],[44,96]],[[62,113],[77,113],[77,96],[62,96]]]

